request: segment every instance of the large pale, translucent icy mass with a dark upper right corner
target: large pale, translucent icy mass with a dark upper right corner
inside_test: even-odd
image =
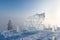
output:
[[[29,30],[43,30],[44,25],[43,25],[43,21],[45,19],[45,13],[41,13],[41,14],[35,14],[32,16],[29,16],[26,21],[25,21],[25,26],[27,27],[27,29]]]

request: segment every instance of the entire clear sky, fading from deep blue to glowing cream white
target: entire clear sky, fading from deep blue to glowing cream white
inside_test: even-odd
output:
[[[59,0],[0,0],[0,25],[9,19],[22,25],[25,17],[42,12],[46,13],[46,24],[60,24],[59,10]]]

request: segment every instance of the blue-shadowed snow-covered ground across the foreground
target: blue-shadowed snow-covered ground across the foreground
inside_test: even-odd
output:
[[[51,31],[4,31],[0,33],[0,40],[60,40],[60,32]]]

